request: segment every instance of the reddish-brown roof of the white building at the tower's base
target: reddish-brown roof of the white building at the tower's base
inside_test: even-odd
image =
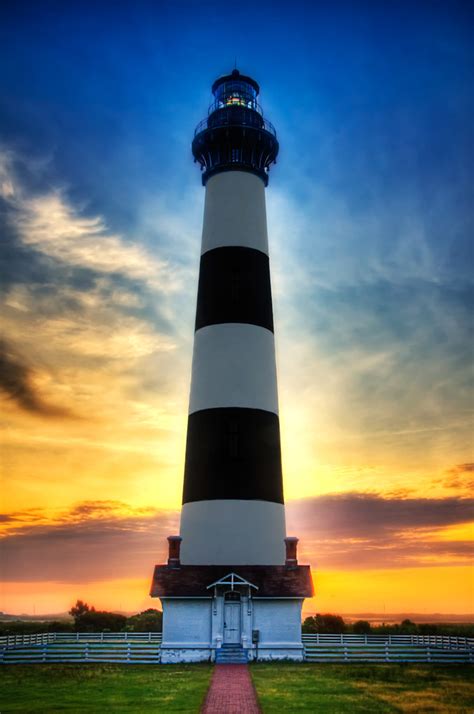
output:
[[[150,595],[152,597],[212,597],[207,586],[236,573],[256,585],[253,597],[312,597],[314,594],[309,565],[156,565]]]

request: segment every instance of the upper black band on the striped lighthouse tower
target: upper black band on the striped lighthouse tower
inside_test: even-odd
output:
[[[195,329],[225,322],[273,332],[268,255],[240,246],[214,248],[201,256]]]

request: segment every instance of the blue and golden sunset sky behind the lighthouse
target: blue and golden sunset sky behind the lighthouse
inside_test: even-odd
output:
[[[260,83],[307,612],[469,613],[473,5],[0,9],[0,610],[136,611],[178,529],[214,79]]]

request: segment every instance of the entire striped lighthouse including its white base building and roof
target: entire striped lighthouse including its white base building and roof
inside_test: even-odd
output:
[[[237,69],[192,142],[205,186],[179,536],[155,566],[163,662],[302,658],[309,566],[286,537],[265,188],[279,144]]]

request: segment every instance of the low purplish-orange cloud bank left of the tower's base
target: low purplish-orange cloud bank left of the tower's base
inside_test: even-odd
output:
[[[22,521],[27,513],[14,514]],[[176,511],[132,509],[115,501],[88,501],[40,524],[12,523],[0,541],[5,581],[93,582],[147,577],[164,562]]]

